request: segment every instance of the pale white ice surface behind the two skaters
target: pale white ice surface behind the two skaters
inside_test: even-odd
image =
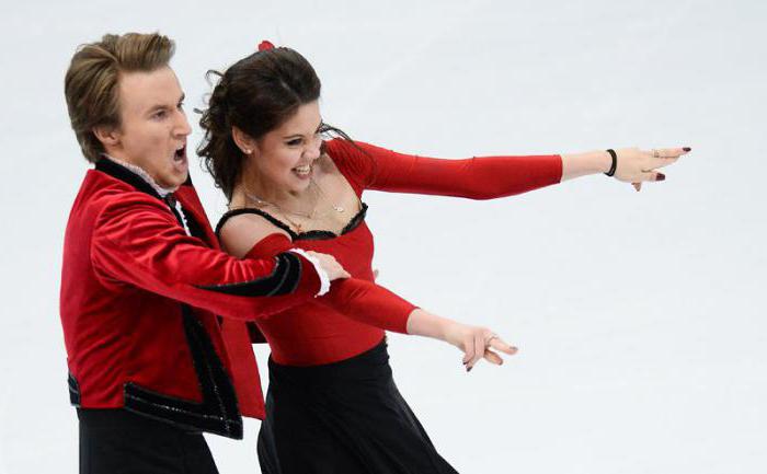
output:
[[[766,23],[760,1],[5,4],[0,472],[77,472],[58,290],[88,163],[64,73],[129,31],[176,41],[193,147],[204,72],[262,39],[312,62],[328,123],[398,151],[692,147],[641,193],[603,175],[491,201],[367,193],[379,281],[520,348],[467,374],[453,347],[391,335],[391,363],[461,473],[767,472]],[[192,173],[215,222],[224,196]],[[221,473],[259,472],[257,429],[208,437]]]

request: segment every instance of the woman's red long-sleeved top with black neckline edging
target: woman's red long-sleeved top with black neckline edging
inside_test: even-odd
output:
[[[557,154],[445,160],[355,143],[334,139],[325,142],[325,152],[360,199],[365,189],[491,199],[556,184],[562,176],[562,160]],[[286,366],[334,362],[373,348],[384,337],[385,330],[405,332],[408,315],[416,307],[370,285],[374,241],[365,223],[365,204],[340,235],[316,230],[297,234],[257,209],[230,211],[217,229],[230,217],[243,212],[263,216],[287,231],[293,240],[282,233],[271,234],[254,245],[248,257],[275,255],[296,246],[335,256],[353,276],[333,281],[330,292],[321,298],[255,323],[268,342],[275,362]],[[257,382],[251,378],[247,383]]]

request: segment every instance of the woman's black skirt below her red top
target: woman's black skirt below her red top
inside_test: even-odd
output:
[[[449,473],[394,385],[386,339],[334,363],[291,367],[271,358],[264,474]]]

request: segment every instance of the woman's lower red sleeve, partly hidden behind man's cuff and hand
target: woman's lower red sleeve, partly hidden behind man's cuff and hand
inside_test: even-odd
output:
[[[259,241],[245,258],[264,258],[290,248],[285,234],[273,233]],[[408,333],[408,317],[417,307],[373,281],[336,279],[330,291],[317,299],[352,320],[397,333]]]

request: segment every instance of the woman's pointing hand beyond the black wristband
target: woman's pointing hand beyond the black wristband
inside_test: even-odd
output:
[[[659,148],[640,150],[639,148],[621,148],[615,150],[618,155],[618,166],[614,177],[625,183],[633,184],[637,190],[642,188],[645,181],[663,181],[666,175],[657,170],[676,162],[683,154],[689,153],[689,148]]]

